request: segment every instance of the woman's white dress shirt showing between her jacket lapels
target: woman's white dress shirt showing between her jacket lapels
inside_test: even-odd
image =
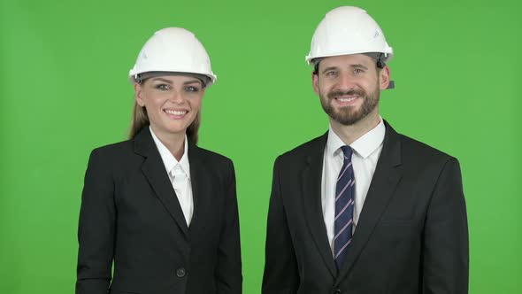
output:
[[[166,173],[169,175],[169,179],[173,184],[173,189],[180,202],[185,221],[187,221],[187,226],[189,226],[192,220],[192,213],[194,213],[194,199],[192,197],[192,184],[190,183],[187,135],[185,135],[183,156],[181,156],[180,161],[178,161],[174,158],[171,151],[159,141],[152,128],[150,128],[150,134],[152,135],[154,143],[156,143],[157,151],[159,151],[159,155],[161,155]]]

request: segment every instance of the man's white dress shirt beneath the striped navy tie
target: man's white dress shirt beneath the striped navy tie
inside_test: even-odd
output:
[[[375,166],[382,151],[382,142],[386,128],[382,119],[379,125],[372,128],[368,133],[362,135],[349,146],[353,150],[351,157],[354,176],[356,178],[355,206],[353,214],[353,231],[357,228],[359,215],[365,205],[366,194],[372,182]],[[342,168],[343,155],[341,147],[345,145],[341,138],[335,134],[332,127],[328,130],[325,154],[323,158],[323,175],[321,181],[321,205],[325,217],[326,233],[328,243],[334,254],[334,218],[335,218],[335,185],[337,177]]]

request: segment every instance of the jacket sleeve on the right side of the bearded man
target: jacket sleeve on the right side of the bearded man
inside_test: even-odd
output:
[[[442,167],[426,214],[422,293],[468,293],[469,244],[457,159]]]

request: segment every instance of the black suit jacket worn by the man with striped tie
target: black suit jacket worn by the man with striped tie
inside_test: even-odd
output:
[[[326,136],[275,161],[263,293],[467,293],[457,159],[386,123],[365,205],[337,270],[320,199]]]

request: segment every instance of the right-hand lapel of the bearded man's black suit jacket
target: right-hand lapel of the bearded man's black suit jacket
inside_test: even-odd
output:
[[[366,194],[365,205],[361,211],[352,243],[344,259],[337,281],[341,281],[357,262],[357,257],[372,235],[372,231],[380,220],[390,198],[393,196],[397,183],[401,180],[401,142],[395,130],[385,120],[386,135],[382,145],[380,158],[372,177],[372,182]]]

